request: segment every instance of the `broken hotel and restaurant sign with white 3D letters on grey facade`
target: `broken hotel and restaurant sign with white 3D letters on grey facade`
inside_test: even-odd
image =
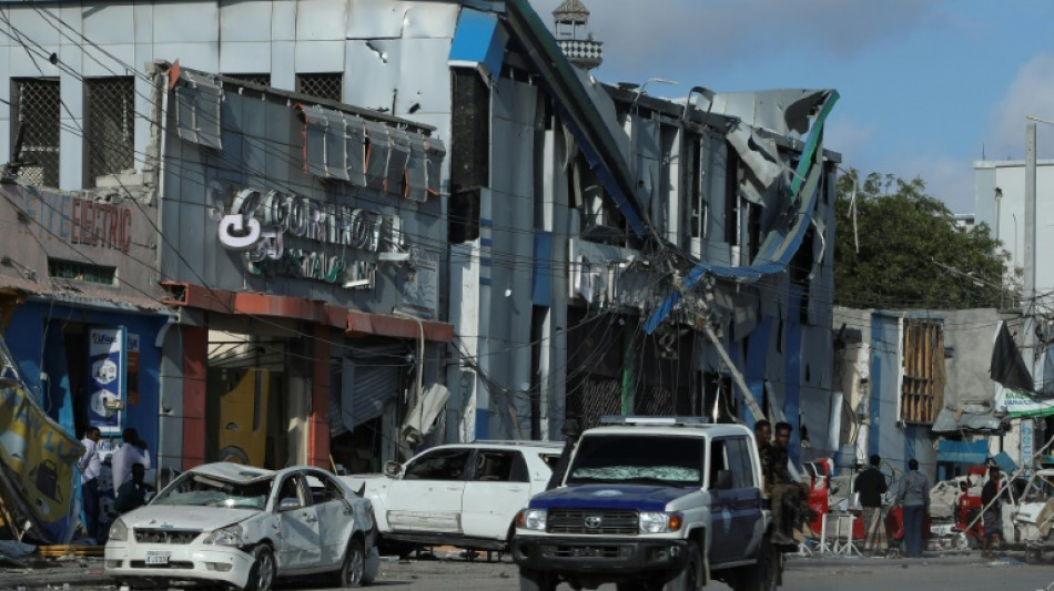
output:
[[[220,203],[217,188],[210,191],[213,204]],[[376,262],[353,258],[354,252],[402,249],[401,220],[396,215],[255,188],[239,191],[226,213],[222,206],[216,210],[220,244],[243,252],[245,268],[254,275],[372,288]],[[293,240],[318,248],[291,248]]]

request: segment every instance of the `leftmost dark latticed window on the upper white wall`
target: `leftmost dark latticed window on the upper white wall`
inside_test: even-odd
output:
[[[23,183],[37,186],[59,186],[59,80],[55,78],[23,78],[11,81],[12,142],[17,145],[21,133],[20,160]]]

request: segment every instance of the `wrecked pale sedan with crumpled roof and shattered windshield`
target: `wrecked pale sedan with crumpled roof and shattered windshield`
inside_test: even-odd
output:
[[[278,577],[332,572],[341,587],[377,575],[369,501],[312,467],[199,466],[110,528],[107,573],[130,587],[176,581],[268,591]]]

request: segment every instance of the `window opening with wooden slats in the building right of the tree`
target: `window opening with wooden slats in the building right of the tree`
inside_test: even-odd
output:
[[[944,404],[943,322],[905,319],[903,346],[900,420],[930,425]]]

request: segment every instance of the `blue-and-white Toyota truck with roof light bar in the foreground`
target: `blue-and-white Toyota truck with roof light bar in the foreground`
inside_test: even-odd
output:
[[[776,589],[782,553],[753,434],[698,419],[622,422],[584,432],[561,486],[518,513],[520,589]]]

